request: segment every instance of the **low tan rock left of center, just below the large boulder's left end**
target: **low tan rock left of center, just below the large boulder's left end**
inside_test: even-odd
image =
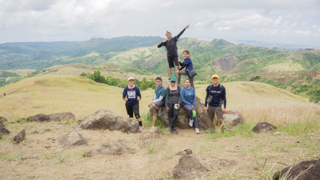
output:
[[[87,142],[84,140],[82,135],[76,132],[71,132],[66,135],[63,135],[58,139],[58,143],[62,144],[62,146],[60,147],[60,149],[56,151],[56,153],[60,153],[72,146],[87,145]]]

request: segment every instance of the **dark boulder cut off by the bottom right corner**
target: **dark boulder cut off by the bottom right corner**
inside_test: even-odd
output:
[[[295,180],[319,180],[320,179],[320,159],[318,160],[306,160],[301,161],[294,166],[278,171],[273,175],[273,180],[282,179],[286,176],[286,179]]]

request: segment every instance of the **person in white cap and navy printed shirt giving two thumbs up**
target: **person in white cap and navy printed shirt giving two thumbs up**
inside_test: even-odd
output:
[[[133,113],[135,118],[138,120],[140,125],[140,132],[143,131],[142,121],[139,114],[139,101],[141,99],[140,89],[134,85],[134,78],[128,78],[128,86],[126,86],[122,93],[122,98],[125,101],[125,109],[130,118],[133,118]]]

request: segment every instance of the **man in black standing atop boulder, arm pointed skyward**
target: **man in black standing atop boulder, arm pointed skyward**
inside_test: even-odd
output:
[[[178,61],[178,48],[177,48],[177,41],[178,38],[182,35],[182,33],[189,28],[190,24],[188,24],[177,36],[172,37],[172,34],[170,31],[167,31],[165,33],[165,36],[167,37],[166,40],[162,41],[158,48],[165,46],[167,51],[167,59],[169,63],[169,80],[172,77],[172,68],[174,65],[176,65],[176,72],[179,70],[179,61]]]

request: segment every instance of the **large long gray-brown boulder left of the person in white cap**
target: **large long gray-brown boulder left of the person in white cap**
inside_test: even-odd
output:
[[[101,109],[78,121],[74,131],[81,129],[108,129],[110,131],[118,130],[123,133],[137,133],[139,132],[139,127],[136,119],[124,119],[109,110]]]

